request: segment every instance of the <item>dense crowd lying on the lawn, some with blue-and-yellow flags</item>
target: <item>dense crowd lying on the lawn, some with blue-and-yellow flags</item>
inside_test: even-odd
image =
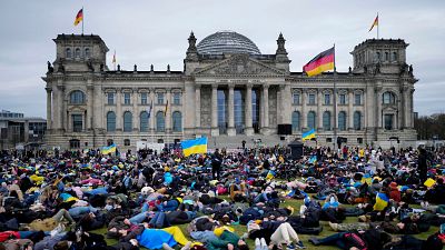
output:
[[[444,151],[305,152],[2,151],[0,250],[443,248]]]

